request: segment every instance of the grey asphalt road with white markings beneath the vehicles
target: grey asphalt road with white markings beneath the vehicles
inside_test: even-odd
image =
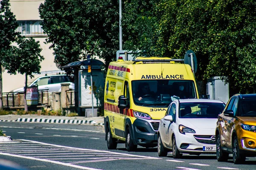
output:
[[[228,162],[218,162],[215,155],[158,157],[156,147],[127,152],[125,144],[108,150],[100,125],[1,122],[0,129],[14,139],[0,143],[0,159],[28,170],[252,170],[256,164],[256,158],[233,164],[231,155]]]

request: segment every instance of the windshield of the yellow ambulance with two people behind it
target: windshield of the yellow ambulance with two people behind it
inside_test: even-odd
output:
[[[191,80],[134,80],[131,86],[135,105],[167,107],[177,99],[197,98]]]

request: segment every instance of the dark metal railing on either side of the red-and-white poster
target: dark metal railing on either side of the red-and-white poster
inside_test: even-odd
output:
[[[24,92],[3,93],[3,107],[24,106]],[[38,90],[38,105],[48,105],[48,90]]]

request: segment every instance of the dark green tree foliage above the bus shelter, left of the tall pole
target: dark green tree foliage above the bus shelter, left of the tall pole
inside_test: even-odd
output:
[[[42,27],[60,66],[87,54],[112,61],[118,48],[118,1],[45,0],[39,7]]]

